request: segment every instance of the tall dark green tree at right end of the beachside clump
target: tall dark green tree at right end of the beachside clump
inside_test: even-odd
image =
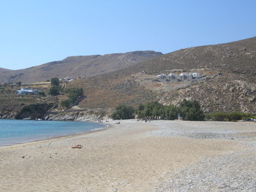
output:
[[[198,101],[187,101],[184,99],[180,107],[181,117],[184,118],[184,120],[204,120],[205,118]]]

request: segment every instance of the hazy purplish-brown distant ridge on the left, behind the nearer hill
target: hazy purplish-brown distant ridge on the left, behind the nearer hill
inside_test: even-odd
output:
[[[113,72],[155,58],[162,53],[134,51],[107,55],[72,56],[28,69],[0,69],[0,82],[40,82],[51,77],[92,77]]]

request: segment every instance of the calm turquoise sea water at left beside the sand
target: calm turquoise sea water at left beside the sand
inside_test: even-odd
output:
[[[104,127],[99,123],[78,121],[0,120],[0,146],[80,134]]]

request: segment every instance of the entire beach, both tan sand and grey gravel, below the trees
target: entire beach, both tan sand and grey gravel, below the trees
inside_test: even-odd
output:
[[[108,124],[0,147],[0,191],[256,191],[256,123]]]

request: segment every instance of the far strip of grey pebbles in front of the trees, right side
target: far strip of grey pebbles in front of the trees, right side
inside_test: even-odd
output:
[[[154,123],[154,121],[152,121]],[[157,123],[157,122],[156,122]],[[256,138],[255,123],[233,122],[163,122],[160,128],[148,132],[151,136],[192,137],[195,139],[249,139]]]

